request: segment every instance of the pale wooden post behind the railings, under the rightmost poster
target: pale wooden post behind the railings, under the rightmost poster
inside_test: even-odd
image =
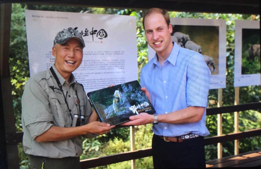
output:
[[[235,87],[235,105],[239,104],[239,87]],[[238,112],[234,112],[234,127],[235,127],[235,133],[239,131],[239,120],[238,120]],[[238,144],[239,140],[235,140],[235,155],[239,154]]]

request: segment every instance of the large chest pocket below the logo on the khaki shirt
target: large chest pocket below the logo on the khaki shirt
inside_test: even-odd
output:
[[[54,125],[59,127],[70,127],[71,117],[64,96],[59,93],[50,93],[49,103]]]

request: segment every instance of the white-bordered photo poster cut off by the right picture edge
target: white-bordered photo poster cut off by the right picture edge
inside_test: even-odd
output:
[[[260,22],[236,20],[234,87],[260,84]]]

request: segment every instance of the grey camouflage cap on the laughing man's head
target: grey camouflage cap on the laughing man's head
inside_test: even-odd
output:
[[[75,39],[79,40],[81,45],[83,47],[85,47],[84,40],[83,40],[81,34],[73,28],[64,29],[64,30],[58,32],[53,41],[53,45],[55,45],[56,43],[62,45],[70,38],[75,38]]]

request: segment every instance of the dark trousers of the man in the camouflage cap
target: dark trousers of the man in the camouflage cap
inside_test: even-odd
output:
[[[64,157],[60,159],[53,159],[42,156],[29,156],[29,169],[79,169],[79,157]]]

